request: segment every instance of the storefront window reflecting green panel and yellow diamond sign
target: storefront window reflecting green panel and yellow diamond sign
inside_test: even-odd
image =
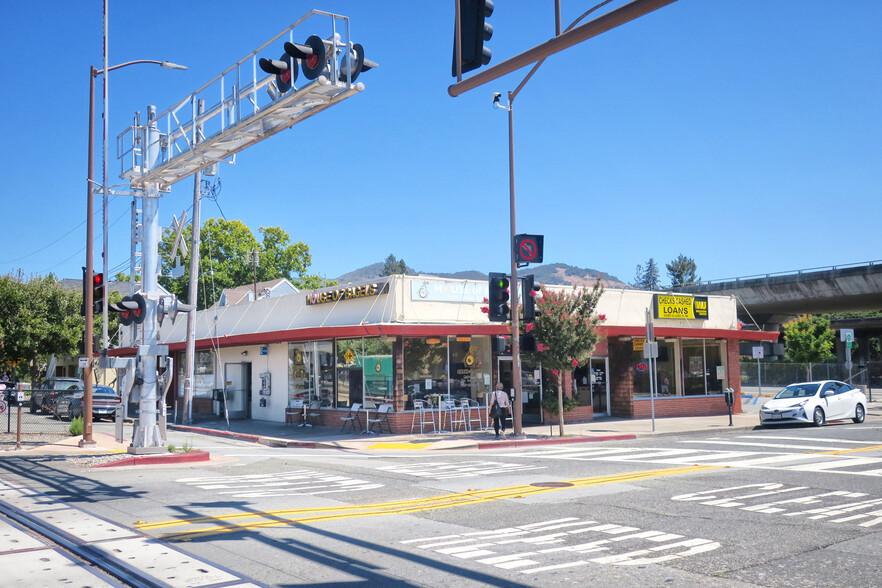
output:
[[[392,399],[392,341],[379,337],[337,340],[337,403],[388,402]]]

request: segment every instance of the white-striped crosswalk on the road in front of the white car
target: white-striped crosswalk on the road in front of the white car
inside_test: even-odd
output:
[[[882,445],[867,441],[740,435],[681,441],[690,447],[555,446],[506,453],[506,459],[606,461],[882,476]],[[719,447],[719,448],[715,448]],[[872,452],[872,453],[871,453]]]

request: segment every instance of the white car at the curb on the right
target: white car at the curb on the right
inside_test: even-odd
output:
[[[760,408],[760,425],[813,423],[851,419],[864,422],[867,397],[850,384],[836,380],[790,384]]]

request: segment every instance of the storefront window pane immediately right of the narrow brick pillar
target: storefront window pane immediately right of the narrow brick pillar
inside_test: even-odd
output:
[[[437,405],[447,394],[447,337],[408,337],[403,346],[406,408],[414,400]]]

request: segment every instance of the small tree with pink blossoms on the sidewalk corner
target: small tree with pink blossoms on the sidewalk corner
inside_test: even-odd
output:
[[[567,292],[543,287],[541,291],[542,297],[536,300],[536,318],[524,325],[524,330],[536,338],[536,352],[525,355],[555,373],[569,372],[588,361],[600,340],[597,326],[606,316],[596,314],[595,309],[603,286],[598,280],[591,290],[573,287],[572,292]],[[564,400],[560,385],[557,407],[563,436]]]

